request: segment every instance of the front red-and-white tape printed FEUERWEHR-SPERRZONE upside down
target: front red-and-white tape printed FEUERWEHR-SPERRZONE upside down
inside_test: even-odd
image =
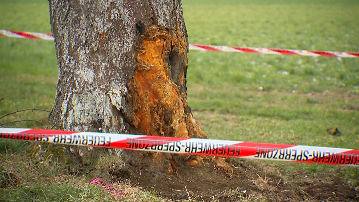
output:
[[[359,166],[359,150],[332,147],[29,128],[0,128],[0,138],[176,154]]]

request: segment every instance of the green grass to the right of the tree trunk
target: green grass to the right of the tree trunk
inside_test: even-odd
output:
[[[182,1],[193,44],[359,52],[358,1]],[[188,103],[217,139],[359,149],[357,58],[190,51]],[[327,127],[338,127],[341,137]],[[259,162],[258,162],[259,163]],[[286,172],[343,170],[273,163]],[[359,169],[344,168],[358,184]]]

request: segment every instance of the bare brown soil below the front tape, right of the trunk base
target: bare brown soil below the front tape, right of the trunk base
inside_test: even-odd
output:
[[[311,177],[299,171],[285,176],[280,169],[255,161],[226,159],[233,168],[229,176],[215,164],[182,164],[173,174],[134,170],[133,184],[155,190],[160,196],[174,200],[238,201],[243,197],[265,201],[358,201],[359,193],[334,173]]]

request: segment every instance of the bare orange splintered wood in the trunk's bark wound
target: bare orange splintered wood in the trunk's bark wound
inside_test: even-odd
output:
[[[171,43],[172,36],[164,29],[150,27],[146,31],[137,53],[138,68],[128,85],[137,117],[133,125],[146,135],[188,138],[187,100],[169,77],[165,62]]]

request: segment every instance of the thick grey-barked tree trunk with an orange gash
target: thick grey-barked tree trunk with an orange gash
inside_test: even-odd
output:
[[[50,0],[50,22],[59,66],[50,128],[206,137],[187,105],[180,0]],[[84,163],[87,148],[69,150]],[[169,173],[189,158],[116,152],[130,165],[150,159]]]

